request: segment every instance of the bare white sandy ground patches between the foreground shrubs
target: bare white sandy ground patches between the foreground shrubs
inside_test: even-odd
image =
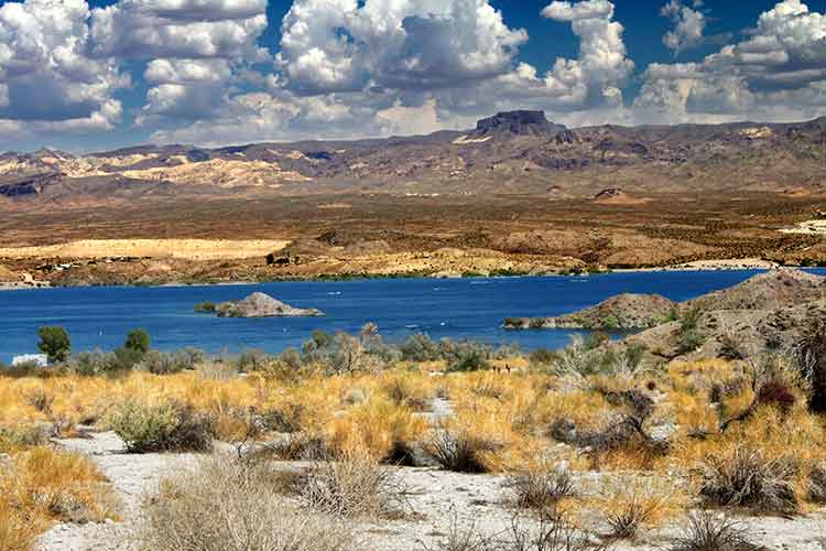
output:
[[[151,493],[164,477],[197,465],[192,454],[123,453],[123,444],[111,432],[91,434],[89,439],[57,441],[58,445],[91,457],[111,480],[121,500],[122,522],[57,525],[41,537],[37,551],[137,551],[135,530],[141,522],[142,496]],[[295,466],[285,464],[287,466]],[[492,475],[467,475],[435,468],[399,468],[399,477],[410,491],[409,506],[415,515],[401,521],[381,521],[359,526],[365,544],[354,551],[423,551],[422,541],[431,547],[445,534],[456,518],[460,525],[474,525],[485,533],[508,529],[511,509],[507,505],[504,478]],[[590,473],[578,475],[580,486],[598,483]],[[771,550],[826,550],[826,511],[782,519],[774,517],[739,519],[752,541]],[[604,527],[595,526],[604,529]],[[655,551],[667,549],[667,537],[674,527],[643,533],[637,542],[618,542],[618,551]]]

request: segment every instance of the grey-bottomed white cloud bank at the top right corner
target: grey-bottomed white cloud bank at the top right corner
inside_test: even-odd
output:
[[[801,0],[700,63],[652,64],[635,107],[663,121],[789,120],[826,111],[826,17]]]

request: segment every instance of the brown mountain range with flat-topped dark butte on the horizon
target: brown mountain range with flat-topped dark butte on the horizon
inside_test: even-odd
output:
[[[467,131],[206,149],[140,145],[0,154],[0,196],[72,202],[141,194],[596,196],[817,193],[826,117],[797,123],[566,128],[511,111]]]

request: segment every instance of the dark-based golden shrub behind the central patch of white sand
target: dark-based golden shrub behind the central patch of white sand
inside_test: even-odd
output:
[[[457,473],[487,473],[485,455],[501,445],[492,440],[470,434],[465,429],[443,428],[433,432],[425,451],[438,465]]]

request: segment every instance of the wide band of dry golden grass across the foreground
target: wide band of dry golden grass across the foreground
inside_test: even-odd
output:
[[[295,442],[308,442],[338,457],[358,452],[373,462],[405,464],[413,449],[433,452],[447,446],[448,453],[466,455],[455,465],[489,473],[532,473],[564,462],[573,473],[602,469],[611,476],[635,473],[643,478],[678,474],[682,489],[676,501],[667,497],[673,488],[656,485],[639,493],[630,486],[624,494],[604,491],[590,501],[565,499],[569,512],[576,508],[622,511],[635,504],[645,511],[644,518],[637,519],[642,527],[676,515],[687,503],[683,490],[697,495],[697,487],[686,480],[699,483],[696,473],[708,457],[725,457],[740,449],[759,450],[768,460],[793,457],[801,509],[814,507],[807,500],[809,473],[826,464],[824,419],[806,409],[802,390],[793,390],[792,406],[760,406],[724,432],[721,421],[748,411],[754,400],[748,369],[740,364],[676,363],[656,374],[596,376],[576,383],[530,370],[444,374],[439,369],[444,366],[403,364],[378,374],[337,376],[308,369],[290,377],[275,371],[216,377],[202,369],[120,378],[0,377],[4,403],[0,449],[15,452],[18,461],[21,450],[37,442],[28,435],[36,432],[32,428],[39,423],[61,431],[81,422],[108,429],[112,412],[122,403],[156,406],[174,400],[208,415],[216,436],[228,442],[249,437],[253,420],[275,419],[268,430],[295,433]],[[783,375],[779,374],[775,377]],[[796,381],[782,381],[796,388]],[[653,412],[634,440],[608,449],[577,449],[553,439],[551,429],[563,419],[580,433],[598,432],[624,419],[630,410],[618,397],[634,389],[654,397]],[[453,414],[434,423],[427,412],[436,397],[449,401]],[[640,445],[646,433],[670,424],[676,430],[664,447],[652,452]],[[271,435],[264,431],[253,437]],[[446,461],[445,467],[453,468],[449,465]],[[0,531],[9,532],[9,523],[20,517],[6,517],[9,520]]]

